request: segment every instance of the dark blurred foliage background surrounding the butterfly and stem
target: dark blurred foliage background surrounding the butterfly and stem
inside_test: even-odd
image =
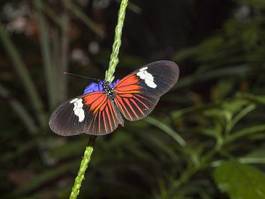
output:
[[[1,198],[68,197],[88,136],[53,135],[49,114],[88,84],[64,71],[104,77],[118,5],[1,2]],[[130,1],[115,76],[171,59],[180,80],[150,117],[97,139],[80,198],[262,198],[264,10],[264,0]]]

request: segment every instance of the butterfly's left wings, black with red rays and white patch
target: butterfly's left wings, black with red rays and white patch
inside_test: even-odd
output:
[[[123,118],[104,92],[92,92],[59,106],[50,118],[50,128],[59,135],[81,133],[104,135],[114,131]]]

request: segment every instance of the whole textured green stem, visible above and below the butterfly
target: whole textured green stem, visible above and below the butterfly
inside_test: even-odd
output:
[[[114,43],[112,47],[112,53],[110,56],[109,69],[106,71],[106,77],[105,77],[105,80],[109,82],[111,82],[114,79],[115,68],[119,61],[118,54],[119,54],[119,49],[121,46],[122,27],[123,27],[123,22],[125,19],[125,11],[126,11],[127,5],[128,5],[128,0],[121,1],[121,6],[120,6],[119,16],[118,16],[118,23],[115,29],[115,38],[114,38]],[[84,156],[80,164],[78,174],[75,178],[75,183],[72,187],[70,199],[76,199],[80,192],[82,181],[84,179],[84,175],[85,175],[86,169],[88,167],[88,163],[90,162],[90,158],[93,152],[93,143],[95,141],[95,138],[96,137],[91,137],[90,141],[92,144],[90,143],[90,145],[86,147]]]

